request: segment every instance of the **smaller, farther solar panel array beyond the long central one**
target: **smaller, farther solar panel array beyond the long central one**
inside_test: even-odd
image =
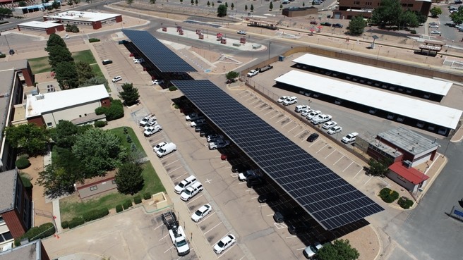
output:
[[[162,73],[196,71],[190,64],[177,56],[174,51],[171,51],[162,42],[150,35],[149,32],[126,29],[122,30],[122,32]]]

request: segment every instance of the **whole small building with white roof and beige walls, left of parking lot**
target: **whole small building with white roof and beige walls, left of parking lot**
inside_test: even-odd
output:
[[[83,125],[105,120],[104,115],[95,114],[95,109],[110,105],[104,85],[29,94],[25,102],[25,118],[28,123],[47,125],[47,128],[56,127],[61,120]]]

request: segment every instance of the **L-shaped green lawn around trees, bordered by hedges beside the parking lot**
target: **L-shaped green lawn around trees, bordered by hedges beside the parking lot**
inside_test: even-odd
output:
[[[121,141],[124,147],[128,147],[130,149],[131,143],[127,142],[123,127],[114,128],[110,131],[121,137]],[[143,151],[140,141],[136,137],[132,128],[127,128],[127,131],[128,134],[132,137],[133,143],[136,144],[138,149]],[[143,154],[146,155],[144,151]],[[152,167],[150,162],[147,162],[143,165],[142,174],[143,178],[145,179],[143,189],[138,192],[138,194],[134,194],[133,196],[140,195],[143,198],[143,194],[145,192],[150,192],[151,194],[155,194],[157,192],[165,192],[166,189],[162,185],[159,176],[157,176],[157,173],[155,172],[155,169]],[[103,195],[102,197],[90,199],[87,202],[80,202],[78,195],[73,194],[72,196],[60,199],[59,201],[61,221],[70,221],[76,216],[82,216],[84,213],[94,211],[95,209],[101,209],[104,207],[107,209],[114,209],[116,205],[122,204],[127,199],[131,199],[133,202],[133,196],[120,194],[119,192],[112,192],[110,194]]]

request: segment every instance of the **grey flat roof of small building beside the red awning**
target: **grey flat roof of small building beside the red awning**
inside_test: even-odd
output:
[[[418,155],[430,149],[437,149],[439,144],[435,140],[430,140],[423,135],[419,135],[412,130],[399,126],[381,132],[377,135],[381,137],[381,140],[386,140],[396,147],[400,147],[404,151],[408,151],[410,154]]]

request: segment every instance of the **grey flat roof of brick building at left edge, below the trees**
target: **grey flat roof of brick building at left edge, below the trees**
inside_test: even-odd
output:
[[[17,177],[16,169],[0,173],[0,213],[14,208]]]

